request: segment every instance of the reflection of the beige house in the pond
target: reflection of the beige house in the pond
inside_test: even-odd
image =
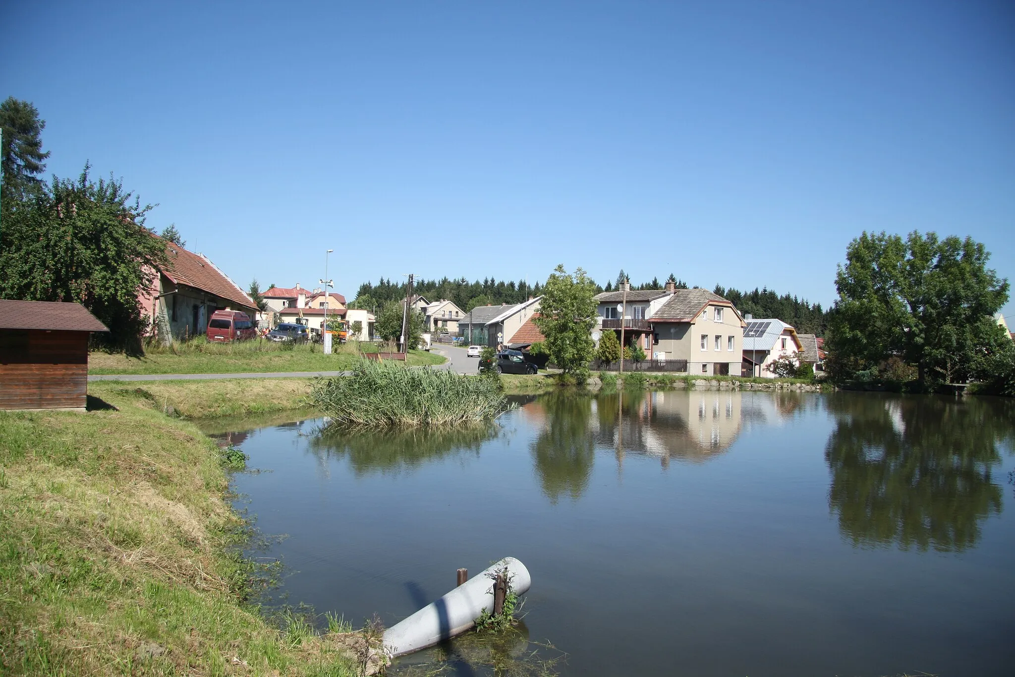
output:
[[[668,391],[600,395],[596,442],[600,447],[664,460],[706,461],[740,434],[744,394],[738,391]],[[749,395],[747,397],[750,397]],[[617,411],[623,409],[617,429]]]

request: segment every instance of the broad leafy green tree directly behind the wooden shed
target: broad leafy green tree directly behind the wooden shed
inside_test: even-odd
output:
[[[140,350],[145,319],[138,294],[164,257],[162,241],[144,227],[142,206],[112,177],[54,177],[5,209],[0,229],[0,297],[76,301],[110,328],[99,341]]]

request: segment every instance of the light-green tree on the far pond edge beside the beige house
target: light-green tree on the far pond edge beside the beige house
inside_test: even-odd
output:
[[[592,328],[596,326],[596,283],[581,268],[568,274],[562,265],[550,273],[543,286],[536,326],[546,337],[543,344],[563,373],[584,381],[595,351]]]

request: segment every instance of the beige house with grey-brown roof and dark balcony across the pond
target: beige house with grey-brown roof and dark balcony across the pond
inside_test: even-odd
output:
[[[740,375],[744,321],[728,299],[668,282],[663,290],[649,291],[625,292],[622,285],[596,300],[601,331],[619,338],[622,327],[624,342],[641,346],[647,357],[686,360],[689,375]]]

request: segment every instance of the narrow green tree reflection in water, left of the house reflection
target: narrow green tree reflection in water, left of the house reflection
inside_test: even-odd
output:
[[[531,445],[536,474],[543,493],[556,503],[561,495],[578,500],[589,485],[596,444],[591,397],[551,393],[529,405],[530,418],[545,425]]]

